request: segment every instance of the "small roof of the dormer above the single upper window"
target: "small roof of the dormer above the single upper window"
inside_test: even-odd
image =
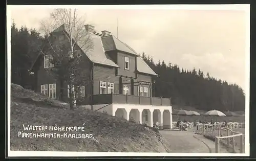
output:
[[[131,47],[129,47],[129,45],[113,35],[103,36],[101,39],[105,51],[119,50],[138,56],[138,54]]]

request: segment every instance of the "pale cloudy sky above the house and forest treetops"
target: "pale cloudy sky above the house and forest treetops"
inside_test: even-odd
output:
[[[52,8],[8,8],[17,27],[40,27]],[[137,53],[178,64],[245,88],[246,12],[243,10],[187,10],[161,8],[78,8],[98,32],[110,31]]]

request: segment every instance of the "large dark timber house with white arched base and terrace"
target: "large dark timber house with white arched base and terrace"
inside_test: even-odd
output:
[[[93,42],[93,50],[83,52],[77,44],[76,52],[87,57],[91,83],[82,87],[85,108],[107,112],[127,120],[148,123],[156,121],[160,128],[172,128],[172,106],[170,98],[153,97],[152,78],[157,74],[129,45],[120,41],[109,31],[97,33],[91,25],[85,25]],[[54,32],[63,39],[62,25]],[[60,34],[58,34],[60,33]],[[56,99],[61,93],[63,101],[68,98],[68,85],[60,87],[46,72],[51,67],[47,56],[39,54],[32,71],[35,75],[36,90]]]

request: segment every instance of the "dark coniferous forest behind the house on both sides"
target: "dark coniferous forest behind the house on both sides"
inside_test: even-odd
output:
[[[11,82],[33,89],[33,76],[28,70],[39,54],[43,38],[35,29],[13,23],[11,29]],[[144,53],[144,61],[159,75],[154,78],[155,97],[172,98],[174,105],[201,110],[244,111],[245,94],[236,84],[211,77],[207,71],[191,71],[171,62],[158,61]]]

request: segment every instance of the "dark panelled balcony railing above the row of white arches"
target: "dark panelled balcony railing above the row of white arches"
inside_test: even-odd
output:
[[[88,98],[86,104],[138,104],[138,105],[154,105],[154,106],[171,106],[170,98],[157,98],[157,97],[142,97],[135,95],[122,95],[122,94],[102,94],[93,95],[92,99]]]

